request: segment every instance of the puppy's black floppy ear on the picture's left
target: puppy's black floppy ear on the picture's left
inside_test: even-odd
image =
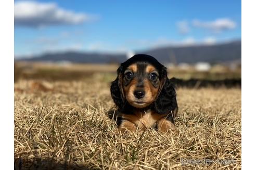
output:
[[[122,86],[122,66],[117,69],[117,78],[111,83],[110,92],[114,103],[122,110],[125,104],[123,86]]]

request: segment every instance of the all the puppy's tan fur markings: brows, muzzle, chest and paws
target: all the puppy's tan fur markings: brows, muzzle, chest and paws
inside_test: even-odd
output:
[[[133,73],[137,72],[137,65],[132,64],[127,69],[130,69]],[[146,73],[149,74],[156,70],[155,67],[152,65],[148,65],[146,67]],[[123,87],[124,95],[127,100],[132,106],[135,108],[143,108],[150,105],[153,101],[156,100],[158,92],[161,86],[158,88],[154,87],[152,83],[148,80],[144,80],[144,90],[145,96],[140,98],[140,101],[145,102],[145,105],[136,105],[134,102],[137,100],[134,96],[134,91],[136,90],[138,80],[135,78],[133,79],[126,87]],[[157,112],[148,110],[148,111],[134,111],[131,114],[120,114],[123,121],[119,125],[118,131],[124,132],[125,130],[136,131],[136,129],[149,129],[150,127],[158,127],[160,132],[167,132],[169,129],[173,129],[174,124],[168,120],[165,120],[165,115],[157,114]]]

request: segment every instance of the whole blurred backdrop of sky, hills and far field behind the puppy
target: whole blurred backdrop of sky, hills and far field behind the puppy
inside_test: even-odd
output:
[[[138,53],[169,78],[240,86],[241,1],[15,1],[15,82],[110,82]]]

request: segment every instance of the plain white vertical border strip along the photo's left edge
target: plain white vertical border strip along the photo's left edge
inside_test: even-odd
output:
[[[14,169],[14,1],[0,1],[1,169]]]

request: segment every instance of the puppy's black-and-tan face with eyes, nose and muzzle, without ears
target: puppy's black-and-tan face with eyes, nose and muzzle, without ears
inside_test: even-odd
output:
[[[147,107],[155,101],[161,84],[157,68],[145,62],[126,67],[122,82],[127,102],[136,108]]]

